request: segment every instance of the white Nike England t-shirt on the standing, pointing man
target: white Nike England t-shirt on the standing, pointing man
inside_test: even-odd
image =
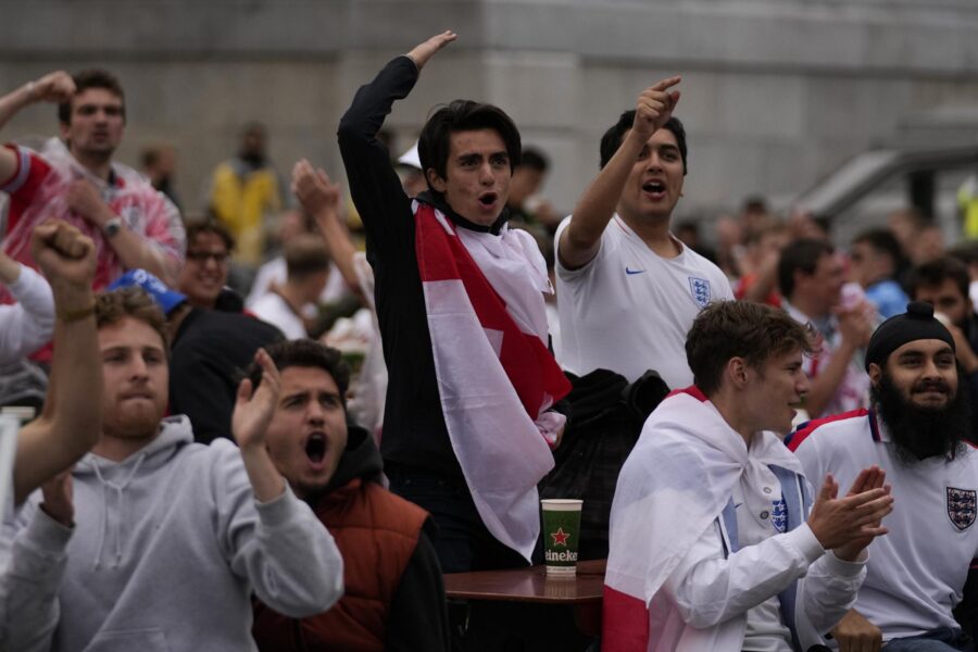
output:
[[[557,250],[570,220],[557,228]],[[556,256],[557,361],[565,369],[611,369],[629,383],[655,369],[670,388],[692,385],[686,335],[701,310],[734,299],[734,290],[719,267],[679,246],[679,255],[662,258],[616,214],[594,260],[570,271]]]

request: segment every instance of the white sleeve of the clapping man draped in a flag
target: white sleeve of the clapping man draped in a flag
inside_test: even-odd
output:
[[[802,577],[825,551],[807,524],[724,559],[719,525],[692,546],[663,589],[698,629],[745,614]]]

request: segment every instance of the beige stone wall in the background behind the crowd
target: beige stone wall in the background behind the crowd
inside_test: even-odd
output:
[[[879,143],[978,140],[978,4],[968,0],[0,0],[0,89],[49,70],[103,65],[126,86],[120,158],[167,140],[178,190],[199,208],[210,170],[261,120],[283,172],[309,156],[341,176],[335,130],[355,88],[390,57],[451,26],[388,125],[410,145],[430,106],[496,102],[554,161],[548,195],[569,209],[598,139],[648,84],[685,75],[690,136],[682,213],[763,192],[787,203]],[[51,108],[4,137],[51,134]]]

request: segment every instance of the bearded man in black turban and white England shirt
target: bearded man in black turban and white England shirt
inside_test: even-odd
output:
[[[928,303],[869,340],[872,408],[802,426],[788,440],[810,478],[844,485],[885,468],[896,499],[889,536],[869,546],[855,607],[832,631],[840,650],[973,650],[952,610],[978,554],[978,452],[955,340]]]

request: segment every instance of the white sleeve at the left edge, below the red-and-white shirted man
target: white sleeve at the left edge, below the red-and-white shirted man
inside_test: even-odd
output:
[[[20,360],[54,336],[54,296],[45,277],[21,265],[7,287],[17,303],[0,306],[0,363]]]

